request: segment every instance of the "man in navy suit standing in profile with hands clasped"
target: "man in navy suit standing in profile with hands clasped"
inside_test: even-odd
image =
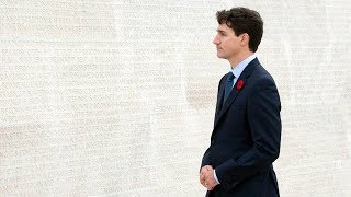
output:
[[[246,8],[217,12],[213,43],[231,66],[218,86],[211,146],[200,182],[207,197],[276,197],[273,161],[281,142],[281,103],[275,83],[254,53],[263,34],[260,14]]]

